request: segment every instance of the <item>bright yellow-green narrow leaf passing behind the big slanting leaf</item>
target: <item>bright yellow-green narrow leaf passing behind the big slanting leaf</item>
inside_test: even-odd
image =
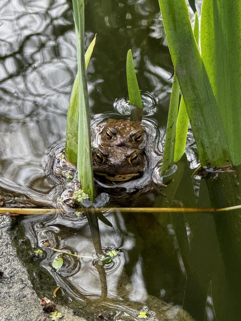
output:
[[[199,20],[198,20],[197,12],[195,13],[193,34],[198,44],[199,43]],[[178,111],[177,124],[176,124],[176,139],[175,139],[175,151],[174,151],[175,163],[178,162],[178,160],[180,160],[180,158],[183,156],[185,152],[188,125],[189,125],[189,117],[188,117],[187,109],[182,96],[180,106],[179,106],[179,111]]]

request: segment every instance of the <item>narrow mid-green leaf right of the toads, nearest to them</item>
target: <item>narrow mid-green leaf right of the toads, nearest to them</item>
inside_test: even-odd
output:
[[[177,80],[176,73],[174,73],[171,100],[168,112],[167,126],[166,126],[166,139],[164,146],[164,154],[162,161],[162,175],[169,168],[174,159],[175,147],[175,134],[176,122],[179,104],[180,86]]]

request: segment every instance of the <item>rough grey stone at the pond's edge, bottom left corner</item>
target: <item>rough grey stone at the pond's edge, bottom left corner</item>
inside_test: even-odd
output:
[[[1,321],[33,321],[48,317],[40,306],[40,298],[33,290],[27,269],[17,256],[13,240],[10,236],[12,218],[0,216],[0,288],[1,288]],[[14,267],[14,268],[13,268]],[[75,315],[74,311],[57,305],[56,309],[64,315],[65,321],[85,321]]]

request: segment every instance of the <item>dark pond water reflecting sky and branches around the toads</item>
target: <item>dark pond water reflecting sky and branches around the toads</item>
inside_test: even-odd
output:
[[[196,1],[197,8],[200,3]],[[0,191],[8,197],[8,206],[30,202],[23,195],[45,204],[51,201],[55,185],[45,175],[48,151],[65,140],[77,68],[72,1],[2,0],[0,14]],[[155,101],[155,108],[149,104],[144,121],[158,133],[161,157],[174,69],[158,1],[85,1],[86,48],[95,33],[87,72],[94,124],[109,117],[128,117],[123,101],[128,96],[125,68],[131,48],[143,97]],[[178,164],[179,174],[163,179],[165,183],[174,178],[167,197],[150,195],[145,206],[210,206],[205,182],[199,193],[200,181],[191,177],[197,165],[195,150],[187,158]],[[18,250],[26,254],[39,296],[51,297],[59,285],[57,302],[69,304],[83,316],[104,312],[103,318],[110,320],[138,320],[137,312],[144,310],[149,320],[162,320],[164,302],[172,304],[170,317],[178,305],[196,320],[236,319],[230,319],[230,311],[224,308],[228,281],[211,214],[116,211],[107,218],[114,229],[99,222],[102,247],[120,253],[104,269],[93,265],[98,256],[85,217],[18,220],[15,239],[28,240]],[[51,262],[58,252],[45,248],[44,258],[33,259],[33,249],[44,247],[46,241],[87,257],[65,254],[65,265],[56,271]],[[96,300],[106,284],[108,299]]]

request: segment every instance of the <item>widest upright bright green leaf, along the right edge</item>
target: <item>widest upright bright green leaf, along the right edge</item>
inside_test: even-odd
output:
[[[241,164],[241,2],[203,0],[201,55],[217,99],[234,165]]]

